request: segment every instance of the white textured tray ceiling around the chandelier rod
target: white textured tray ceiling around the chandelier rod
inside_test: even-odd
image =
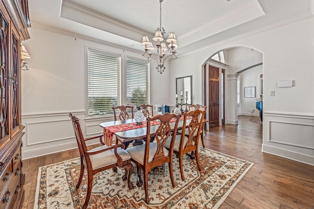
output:
[[[162,27],[166,35],[176,33],[179,48],[186,52],[193,50],[192,43],[210,45],[309,17],[311,4],[312,0],[164,0]],[[153,36],[159,27],[157,0],[28,0],[28,7],[33,26],[60,28],[135,49],[142,49],[143,35]]]

